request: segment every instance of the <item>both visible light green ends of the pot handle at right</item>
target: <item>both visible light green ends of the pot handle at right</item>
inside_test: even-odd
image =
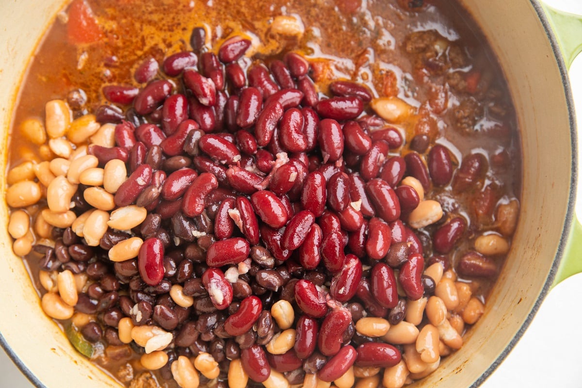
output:
[[[582,15],[563,12],[544,3],[542,3],[542,7],[558,39],[566,66],[570,69],[574,58],[582,52]],[[569,239],[566,243],[562,262],[560,262],[552,287],[567,277],[581,272],[582,225],[575,217],[570,227]]]

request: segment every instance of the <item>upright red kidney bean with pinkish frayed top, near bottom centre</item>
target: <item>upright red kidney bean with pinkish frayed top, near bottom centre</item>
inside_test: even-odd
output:
[[[321,354],[331,356],[339,352],[343,343],[343,333],[350,323],[352,314],[343,307],[332,309],[325,316],[317,336],[317,347]]]

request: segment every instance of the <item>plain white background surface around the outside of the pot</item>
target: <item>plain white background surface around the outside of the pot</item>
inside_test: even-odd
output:
[[[582,15],[580,0],[545,0],[545,2],[555,8]],[[582,42],[582,37],[580,41]],[[578,127],[582,129],[582,58],[574,61],[570,81],[576,111],[579,112]],[[579,149],[582,150],[580,145]],[[582,168],[579,171],[582,172]],[[580,186],[582,185],[579,185],[579,193],[582,194]],[[579,201],[576,213],[579,219],[582,219],[580,217],[582,201]],[[572,276],[558,284],[549,293],[530,328],[512,353],[482,387],[582,387],[581,296],[582,274]],[[33,387],[1,348],[0,387]]]

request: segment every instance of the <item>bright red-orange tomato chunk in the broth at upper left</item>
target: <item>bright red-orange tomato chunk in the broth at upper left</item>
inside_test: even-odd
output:
[[[72,44],[97,42],[103,36],[93,10],[85,0],[74,0],[71,4],[67,35]]]

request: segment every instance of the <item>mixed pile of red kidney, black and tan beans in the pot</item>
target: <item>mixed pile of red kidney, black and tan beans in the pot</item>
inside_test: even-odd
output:
[[[10,170],[8,227],[38,257],[46,314],[88,357],[137,354],[182,388],[433,372],[484,311],[457,273],[496,276],[517,201],[452,268],[467,220],[430,195],[475,187],[483,155],[408,149],[389,122],[410,105],[345,80],[324,95],[295,52],[250,63],[245,37],[204,42],[196,28],[193,51],[144,60],[144,87],[105,86],[94,113],[77,90],[23,124],[47,160]]]

